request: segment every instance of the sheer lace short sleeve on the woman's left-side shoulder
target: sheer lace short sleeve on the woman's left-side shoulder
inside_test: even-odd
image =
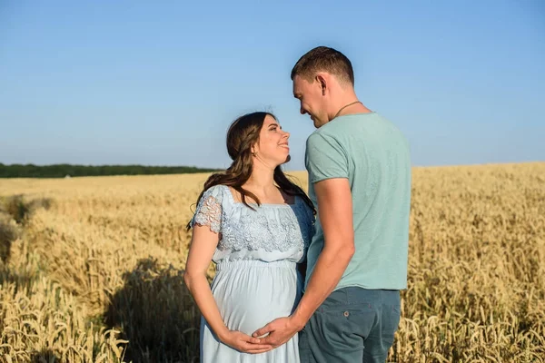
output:
[[[204,191],[203,197],[197,204],[197,209],[191,221],[191,226],[209,226],[215,233],[222,231],[223,189],[221,185],[215,185]]]

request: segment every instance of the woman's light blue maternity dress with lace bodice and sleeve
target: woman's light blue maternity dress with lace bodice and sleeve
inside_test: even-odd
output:
[[[213,254],[213,297],[228,329],[252,335],[273,319],[289,316],[302,296],[296,263],[306,258],[314,216],[300,197],[294,204],[236,202],[229,187],[203,193],[192,224],[220,233]],[[261,354],[239,352],[221,343],[201,319],[203,363],[298,363],[297,334],[281,347]]]

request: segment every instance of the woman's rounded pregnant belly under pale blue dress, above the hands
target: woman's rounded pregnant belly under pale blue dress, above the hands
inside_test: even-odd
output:
[[[289,316],[301,288],[292,263],[241,261],[219,270],[212,289],[227,328],[251,335],[273,319]]]

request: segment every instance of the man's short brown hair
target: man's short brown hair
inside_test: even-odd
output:
[[[311,49],[299,58],[299,61],[293,66],[292,80],[296,75],[312,82],[312,79],[318,72],[327,72],[339,78],[340,81],[354,85],[354,71],[352,63],[341,52],[327,47],[318,46]]]

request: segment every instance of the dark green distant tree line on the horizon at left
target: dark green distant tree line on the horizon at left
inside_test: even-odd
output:
[[[185,174],[194,172],[216,172],[217,169],[202,169],[194,166],[144,166],[144,165],[34,165],[0,162],[0,178],[64,178],[66,176],[106,175],[153,175]]]

